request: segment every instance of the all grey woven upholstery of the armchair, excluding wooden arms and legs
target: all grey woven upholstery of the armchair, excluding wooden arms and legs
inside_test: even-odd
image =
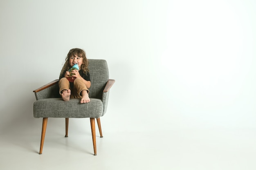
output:
[[[106,60],[89,60],[91,79],[90,102],[80,104],[81,99],[70,99],[64,102],[58,93],[58,84],[35,93],[34,117],[62,117],[62,118],[99,118],[106,113],[109,92],[103,89],[109,79]]]

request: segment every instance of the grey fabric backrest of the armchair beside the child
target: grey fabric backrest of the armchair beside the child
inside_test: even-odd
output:
[[[89,88],[90,98],[102,99],[102,93],[106,86],[109,73],[106,60],[88,59],[91,87]]]

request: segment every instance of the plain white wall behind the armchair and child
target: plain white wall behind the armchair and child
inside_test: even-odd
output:
[[[57,79],[76,47],[107,60],[116,80],[106,130],[256,128],[255,9],[254,0],[1,0],[0,132],[41,128],[33,90]]]

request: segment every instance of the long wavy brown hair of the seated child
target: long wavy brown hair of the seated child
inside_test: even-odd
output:
[[[72,67],[72,66],[70,66],[69,59],[70,59],[70,57],[74,57],[75,55],[83,58],[83,64],[81,65],[81,70],[83,71],[83,73],[87,74],[89,72],[89,69],[88,69],[89,62],[86,58],[85,51],[83,51],[82,49],[76,48],[76,49],[71,49],[67,53],[67,57],[65,59],[66,62],[64,63],[64,65],[61,69],[60,75],[63,75],[66,71],[68,71]]]

